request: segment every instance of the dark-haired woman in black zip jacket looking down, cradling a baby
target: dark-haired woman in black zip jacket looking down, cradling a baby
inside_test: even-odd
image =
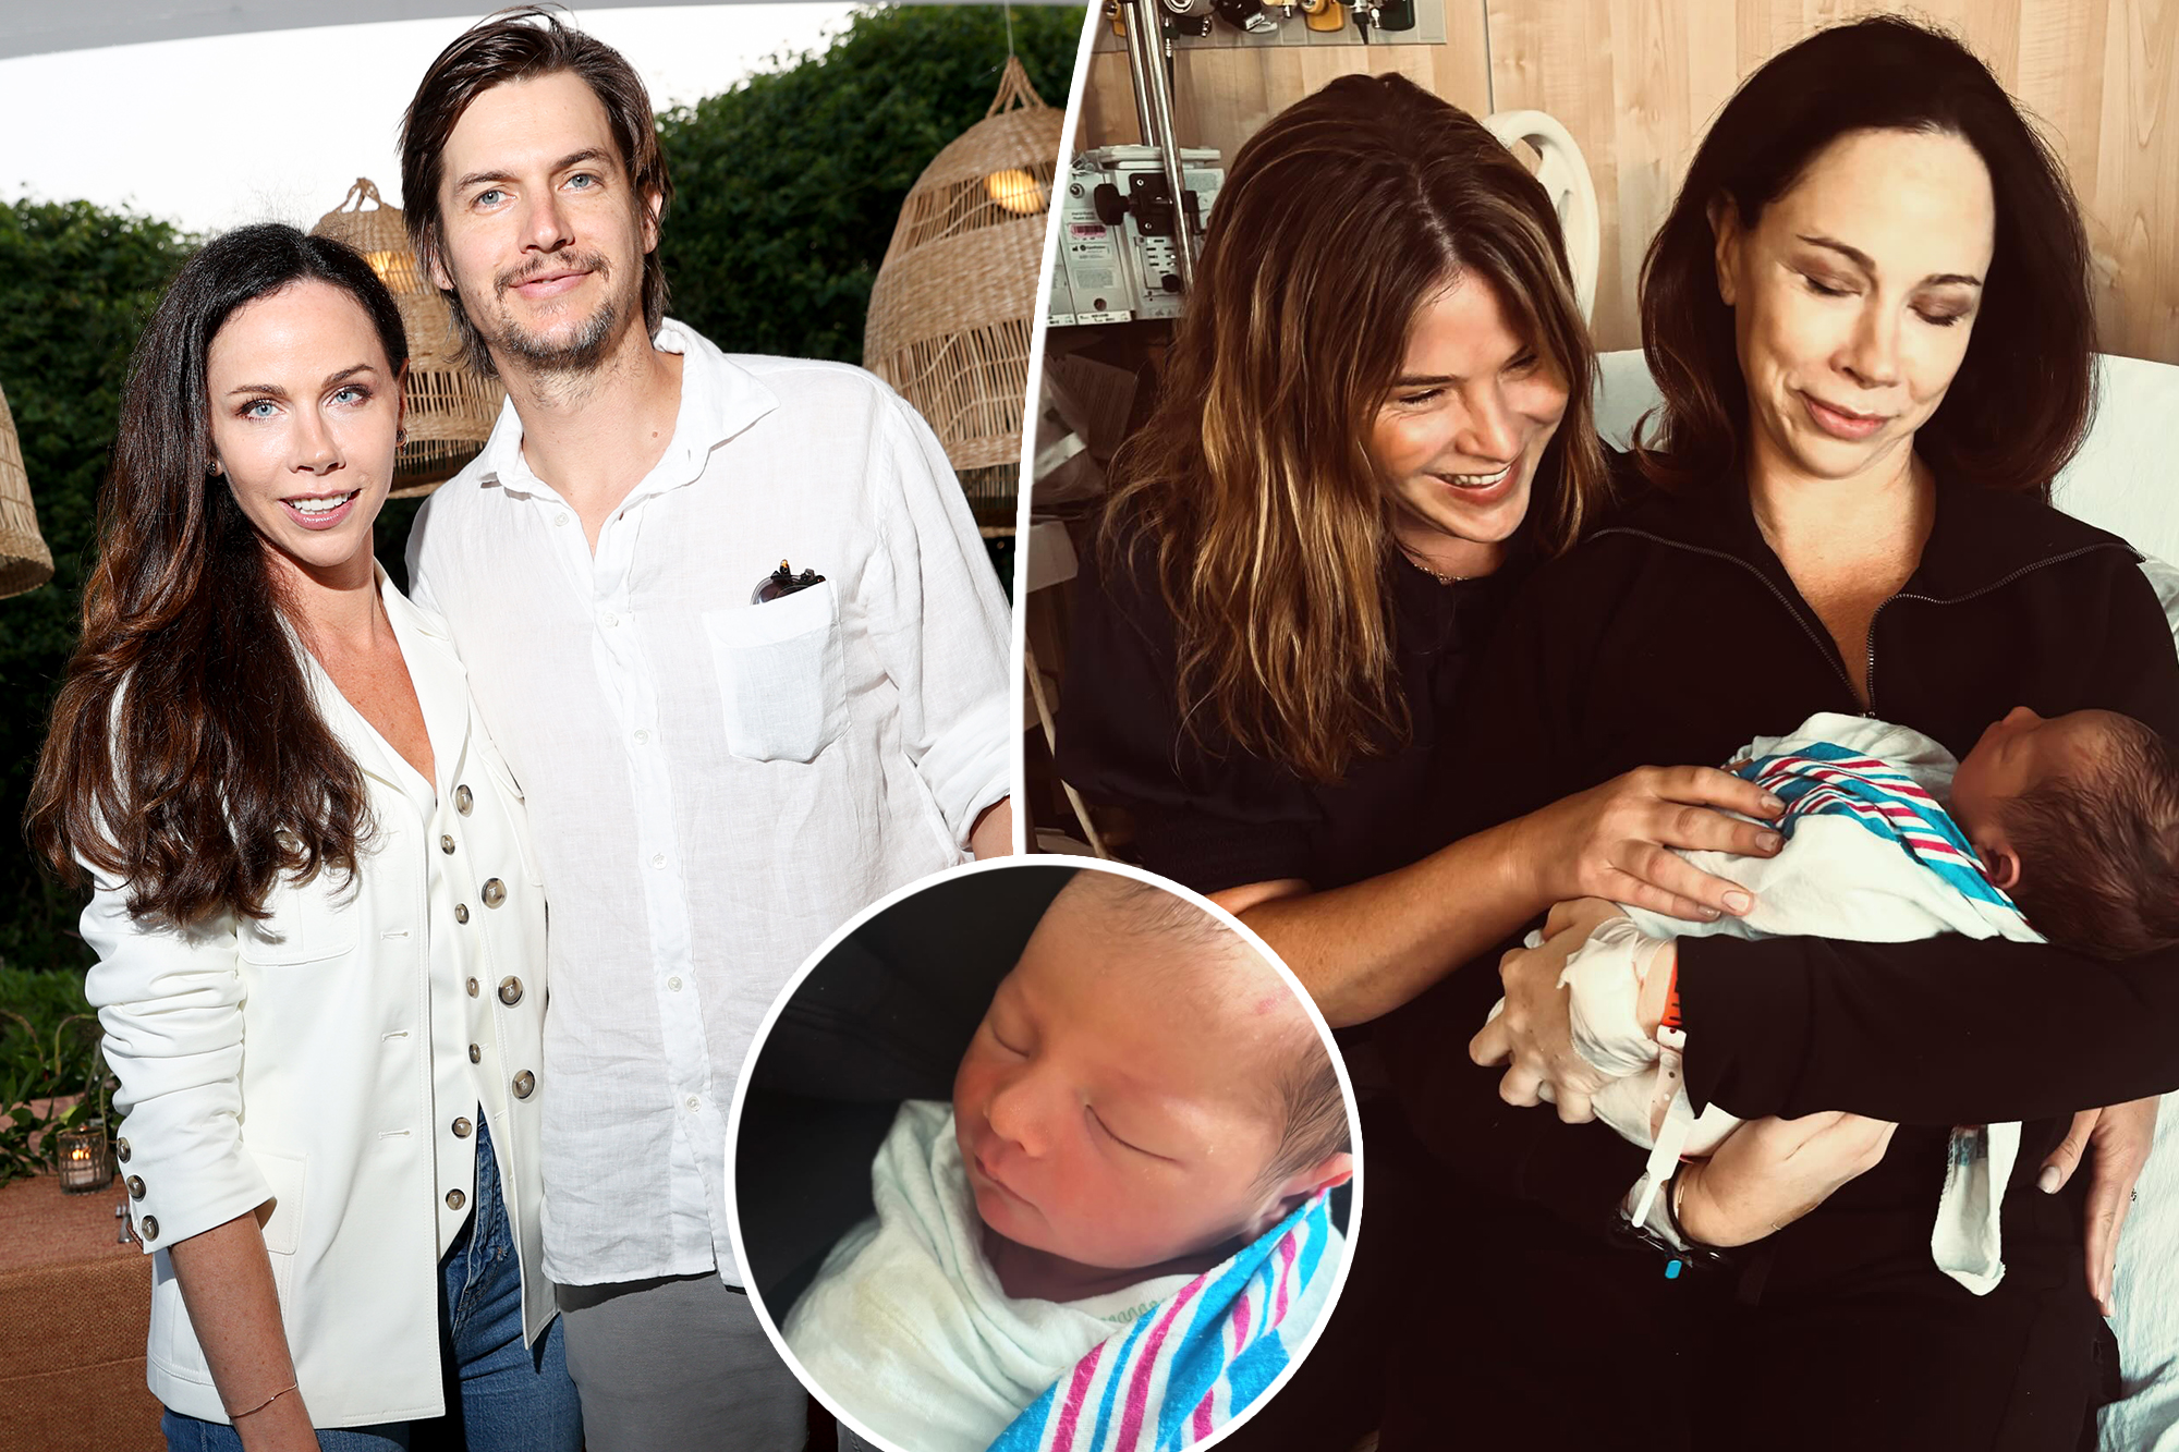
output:
[[[1641,301],[1665,408],[1628,460],[1634,501],[1512,604],[1475,682],[1490,711],[1438,763],[1442,833],[1630,763],[1726,761],[1813,711],[1955,754],[2016,704],[2179,735],[2138,556],[2044,501],[2092,399],[2079,216],[1955,41],[1872,20],[1750,76]],[[1687,1238],[1737,1247],[1687,1273],[1628,1245],[1643,1151],[1501,1101],[1534,1101],[1541,1031],[1504,1086],[1466,1062],[1499,975],[1453,972],[1381,1033],[1475,1245],[1445,1288],[1480,1308],[1447,1321],[1451,1415],[1543,1448],[2092,1441],[2111,1347],[2083,1275],[2087,1175],[2057,1195],[2035,1177],[2077,1110],[2179,1086],[2172,957],[1682,942],[1695,1103],[1898,1123],[1828,1199],[1776,1164],[1750,1184],[1724,1151],[1682,1166],[1702,1186],[1680,1186]],[[1556,959],[1519,959],[1510,996],[1547,1009]],[[2142,1110],[2120,1114],[2140,1140]],[[2007,1118],[2029,1121],[2007,1273],[1976,1297],[1935,1269],[1931,1223],[1948,1129]],[[2120,1195],[2135,1171],[2101,1166]]]

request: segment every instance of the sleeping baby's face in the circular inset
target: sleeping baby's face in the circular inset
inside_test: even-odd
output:
[[[983,1223],[1090,1267],[1151,1267],[1277,1221],[1275,1044],[1290,990],[1061,898],[954,1075]]]

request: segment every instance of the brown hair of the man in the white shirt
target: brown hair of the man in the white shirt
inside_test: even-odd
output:
[[[597,105],[606,109],[606,126],[612,131],[612,144],[621,148],[621,166],[628,168],[630,203],[641,209],[656,196],[658,218],[665,222],[665,211],[673,203],[673,179],[658,146],[658,122],[643,76],[619,50],[562,22],[551,9],[510,7],[468,26],[438,52],[401,118],[401,201],[407,203],[410,246],[416,249],[416,264],[425,277],[434,264],[445,266],[438,187],[445,179],[447,137],[453,135],[462,113],[495,85],[560,72],[582,76]],[[451,277],[453,268],[447,268],[447,275]],[[453,310],[468,366],[484,377],[497,377],[492,353],[462,310],[460,292],[442,288],[440,297]],[[643,255],[643,336],[656,338],[665,316],[667,266],[654,246]]]

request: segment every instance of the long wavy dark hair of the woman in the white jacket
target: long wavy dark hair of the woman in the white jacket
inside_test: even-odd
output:
[[[174,927],[266,916],[281,872],[355,870],[362,772],[318,715],[268,545],[211,473],[207,358],[244,305],[320,281],[370,318],[399,377],[401,312],[370,266],[294,227],[242,227],[174,277],[129,360],[83,637],[31,785],[31,848],[89,863]]]

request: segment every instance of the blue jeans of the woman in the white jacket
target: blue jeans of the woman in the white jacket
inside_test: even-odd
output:
[[[322,1452],[580,1452],[582,1406],[567,1376],[560,1321],[523,1345],[523,1278],[499,1197],[492,1136],[477,1116],[477,1203],[438,1262],[438,1365],[447,1415],[431,1421],[318,1428]],[[242,1452],[220,1421],[168,1411],[168,1452]]]

